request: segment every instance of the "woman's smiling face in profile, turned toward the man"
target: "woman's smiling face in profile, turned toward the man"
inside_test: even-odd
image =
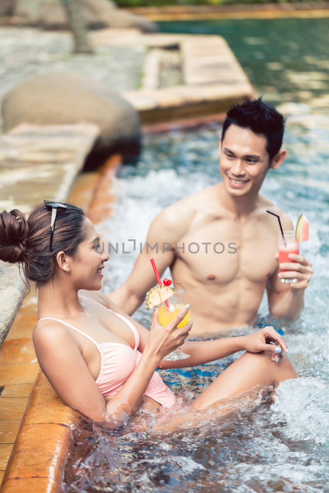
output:
[[[77,290],[99,290],[102,288],[103,268],[109,260],[109,254],[93,223],[87,217],[84,221],[85,240],[79,244],[75,257],[69,260],[70,277]]]

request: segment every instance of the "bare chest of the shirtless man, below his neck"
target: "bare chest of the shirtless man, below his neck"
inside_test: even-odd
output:
[[[276,235],[257,223],[240,227],[218,220],[198,225],[182,237],[176,252],[177,267],[182,261],[182,269],[203,283],[264,282],[277,267]]]

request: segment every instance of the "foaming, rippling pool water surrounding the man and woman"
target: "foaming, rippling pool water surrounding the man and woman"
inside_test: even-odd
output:
[[[310,26],[314,26],[313,21]],[[243,22],[245,30],[252,31],[251,36],[266,36],[270,32],[265,26],[268,21],[261,21],[261,30],[257,28],[259,21],[234,21],[230,29],[235,26],[236,36],[243,37]],[[207,25],[215,29],[216,24],[220,30],[228,22],[199,23],[199,29],[209,32]],[[194,30],[197,23],[189,25]],[[274,21],[268,24],[274,25]],[[298,31],[300,43],[318,33],[315,28],[307,31],[305,25]],[[172,30],[175,26],[171,23]],[[255,41],[249,45],[250,57],[255,46],[266,55],[267,47],[256,45]],[[278,46],[279,57],[283,56],[284,46],[285,43]],[[321,45],[319,50],[322,56]],[[249,60],[247,52],[244,56]],[[254,60],[249,61],[253,66]],[[301,65],[300,70],[306,70]],[[291,91],[294,93],[294,87]],[[307,101],[283,96],[276,102],[288,108],[284,144],[288,158],[279,170],[270,170],[261,189],[262,194],[291,215],[294,224],[301,212],[310,219],[310,240],[301,245],[301,252],[312,261],[314,275],[305,292],[301,316],[294,322],[273,319],[268,315],[264,294],[257,322],[259,326],[273,324],[284,331],[300,378],[281,383],[272,404],[265,393],[252,404],[242,401],[239,410],[225,419],[205,421],[196,429],[182,427],[164,436],[136,431],[129,425],[105,432],[97,425],[81,422],[75,430],[74,448],[68,460],[65,492],[329,491],[329,124],[325,111],[312,103],[324,97],[325,91],[312,93]],[[219,135],[220,126],[212,124],[197,132],[148,136],[137,166],[120,170],[115,214],[97,229],[112,244],[118,242],[120,246],[124,242],[129,253],[123,253],[120,247],[117,254],[111,253],[104,276],[106,293],[129,275],[139,243],[145,242],[148,226],[159,211],[218,183]],[[136,240],[136,250],[128,239]],[[149,326],[150,315],[143,307],[135,317]],[[238,356],[160,374],[177,394],[188,400],[191,391],[200,392]],[[152,416],[141,416],[145,423],[152,424]]]

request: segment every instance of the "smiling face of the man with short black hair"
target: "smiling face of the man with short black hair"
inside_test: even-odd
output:
[[[220,142],[219,171],[228,193],[258,192],[269,169],[266,137],[249,128],[230,125]]]

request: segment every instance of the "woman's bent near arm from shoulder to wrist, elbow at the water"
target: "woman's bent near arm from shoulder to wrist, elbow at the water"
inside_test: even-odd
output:
[[[67,331],[44,327],[35,332],[34,344],[40,367],[63,402],[94,421],[113,425],[137,411],[161,360],[161,355],[147,348],[122,389],[106,404],[79,346]]]

